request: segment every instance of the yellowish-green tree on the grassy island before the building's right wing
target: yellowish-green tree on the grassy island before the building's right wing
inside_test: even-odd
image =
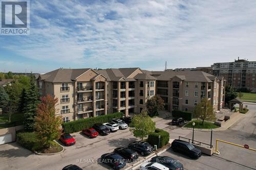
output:
[[[216,119],[214,108],[210,104],[210,101],[205,98],[195,107],[194,115],[203,120],[202,124],[204,124],[204,120],[214,121]]]

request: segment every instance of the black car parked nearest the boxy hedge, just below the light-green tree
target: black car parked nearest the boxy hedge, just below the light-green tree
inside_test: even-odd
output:
[[[145,141],[134,141],[129,143],[128,148],[137,151],[140,155],[148,155],[153,152],[153,148],[150,145],[150,143],[147,143]]]

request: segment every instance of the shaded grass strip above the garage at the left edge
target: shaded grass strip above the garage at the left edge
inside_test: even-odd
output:
[[[11,122],[9,122],[9,116],[7,114],[0,115],[0,123],[6,123],[0,124],[0,129],[22,125],[23,120],[24,116],[21,113],[15,113],[11,115]]]

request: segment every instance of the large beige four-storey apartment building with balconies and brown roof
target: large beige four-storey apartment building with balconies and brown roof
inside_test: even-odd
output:
[[[224,103],[225,80],[203,71],[148,71],[140,68],[63,69],[37,78],[41,95],[58,98],[64,122],[113,112],[140,113],[155,94],[165,110],[193,111],[202,98],[215,110]]]

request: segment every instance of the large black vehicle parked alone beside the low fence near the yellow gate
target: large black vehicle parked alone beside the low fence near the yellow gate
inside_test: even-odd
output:
[[[172,149],[174,152],[182,153],[190,158],[199,158],[202,155],[200,149],[195,148],[194,145],[183,140],[175,139],[172,142]]]

